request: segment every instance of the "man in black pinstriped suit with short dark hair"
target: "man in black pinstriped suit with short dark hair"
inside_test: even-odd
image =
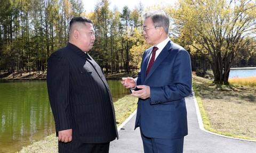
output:
[[[69,42],[52,53],[47,88],[59,152],[109,152],[118,139],[114,105],[101,67],[87,54],[95,40],[92,21],[69,23]]]

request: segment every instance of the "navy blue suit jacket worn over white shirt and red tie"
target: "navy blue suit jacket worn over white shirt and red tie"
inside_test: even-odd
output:
[[[174,139],[188,134],[185,97],[192,86],[188,52],[171,40],[156,58],[147,77],[152,48],[142,56],[137,86],[150,87],[150,98],[139,99],[135,128],[149,138]]]

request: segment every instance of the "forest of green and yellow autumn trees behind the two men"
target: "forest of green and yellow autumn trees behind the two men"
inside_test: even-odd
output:
[[[153,6],[170,17],[169,36],[188,50],[193,71],[211,70],[214,81],[228,84],[230,67],[256,65],[256,1],[180,0],[174,6]],[[1,73],[45,73],[47,58],[68,42],[69,21],[87,16],[95,29],[89,54],[105,73],[140,68],[150,47],[143,37],[141,3],[133,10],[110,10],[101,0],[86,12],[81,0],[3,0],[0,6]]]

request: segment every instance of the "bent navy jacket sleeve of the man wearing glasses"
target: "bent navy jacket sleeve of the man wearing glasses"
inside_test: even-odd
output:
[[[172,84],[150,87],[151,105],[180,100],[190,95],[192,88],[190,56],[185,49],[181,49],[174,60]]]

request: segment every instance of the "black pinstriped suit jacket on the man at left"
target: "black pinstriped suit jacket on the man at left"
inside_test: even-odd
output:
[[[73,141],[105,143],[118,138],[114,105],[101,67],[68,43],[48,60],[47,88],[55,129],[73,129]]]

